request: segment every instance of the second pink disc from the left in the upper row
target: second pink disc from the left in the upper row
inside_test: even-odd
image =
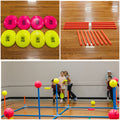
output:
[[[21,16],[18,20],[18,27],[22,30],[27,30],[30,27],[30,18],[28,16]]]

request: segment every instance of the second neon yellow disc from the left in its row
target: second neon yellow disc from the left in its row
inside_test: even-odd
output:
[[[21,48],[27,47],[30,44],[30,32],[27,30],[20,30],[16,36],[16,44]]]

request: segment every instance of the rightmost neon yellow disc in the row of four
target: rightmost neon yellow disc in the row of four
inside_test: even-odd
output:
[[[51,47],[51,48],[58,47],[60,43],[59,36],[57,32],[55,32],[54,30],[48,30],[45,33],[45,41],[48,47]]]

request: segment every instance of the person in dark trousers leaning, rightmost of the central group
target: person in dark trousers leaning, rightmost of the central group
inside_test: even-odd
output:
[[[66,79],[68,80],[68,88],[67,88],[67,89],[68,89],[68,91],[69,91],[69,98],[70,98],[70,100],[71,100],[71,97],[72,97],[72,98],[74,99],[74,101],[76,101],[76,100],[77,100],[77,97],[76,97],[76,95],[71,91],[73,84],[71,83],[70,76],[69,76],[69,74],[68,74],[67,71],[64,71],[64,75],[65,75]]]

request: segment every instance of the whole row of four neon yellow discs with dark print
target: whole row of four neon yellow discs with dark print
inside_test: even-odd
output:
[[[11,47],[15,43],[20,48],[27,47],[30,43],[35,48],[45,45],[56,48],[59,45],[59,36],[54,30],[48,30],[45,34],[40,30],[34,30],[31,34],[27,30],[20,30],[17,34],[13,30],[6,30],[1,36],[4,47]]]

